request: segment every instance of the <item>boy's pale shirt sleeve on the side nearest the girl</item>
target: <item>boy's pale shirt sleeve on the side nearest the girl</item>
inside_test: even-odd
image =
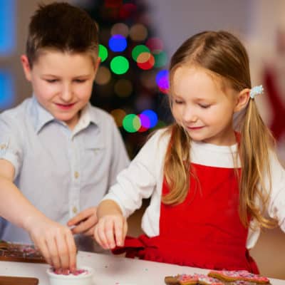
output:
[[[113,157],[112,157],[112,164],[110,167],[110,173],[109,173],[109,185],[112,186],[115,184],[116,177],[118,173],[128,167],[130,164],[130,159],[128,157],[127,151],[125,150],[125,144],[123,142],[123,138],[120,135],[120,131],[118,130],[117,125],[115,125],[115,122],[112,120],[112,150],[113,150]]]

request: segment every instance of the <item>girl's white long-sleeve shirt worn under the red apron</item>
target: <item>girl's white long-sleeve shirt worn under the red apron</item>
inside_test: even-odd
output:
[[[142,147],[130,166],[120,172],[117,183],[110,188],[103,199],[112,199],[125,217],[142,205],[142,199],[149,198],[150,205],[142,217],[142,229],[149,237],[160,234],[160,202],[162,195],[163,162],[170,136],[159,130]],[[237,154],[237,144],[219,146],[204,142],[192,142],[191,162],[199,165],[233,168],[233,155]],[[285,232],[285,170],[275,155],[271,155],[271,195],[268,213],[276,217]],[[240,167],[240,162],[237,162]],[[268,179],[265,177],[266,185]],[[253,221],[252,221],[253,222]],[[260,229],[249,229],[247,248],[251,249],[259,238]]]

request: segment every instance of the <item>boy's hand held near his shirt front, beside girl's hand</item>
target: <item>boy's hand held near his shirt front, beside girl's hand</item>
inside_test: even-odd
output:
[[[97,207],[90,207],[81,211],[76,217],[70,219],[67,223],[68,227],[73,227],[73,234],[84,234],[93,237],[94,227],[97,224]]]

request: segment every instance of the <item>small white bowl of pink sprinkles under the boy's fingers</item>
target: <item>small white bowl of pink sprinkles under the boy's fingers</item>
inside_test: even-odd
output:
[[[94,270],[87,266],[82,266],[79,269],[86,269],[88,272],[84,272],[78,275],[74,274],[56,274],[53,269],[49,268],[46,273],[49,277],[50,285],[92,285]]]

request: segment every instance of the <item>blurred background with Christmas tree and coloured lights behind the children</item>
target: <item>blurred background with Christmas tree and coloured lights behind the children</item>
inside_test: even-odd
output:
[[[20,56],[28,21],[39,0],[0,0],[0,111],[31,95]],[[224,29],[239,36],[251,62],[252,85],[264,85],[257,104],[285,162],[284,0],[69,0],[100,26],[102,63],[91,103],[113,115],[131,158],[147,135],[172,121],[167,108],[167,67],[172,53],[194,33]],[[142,210],[130,218],[140,234]],[[285,235],[262,232],[252,250],[261,273],[285,279]]]

